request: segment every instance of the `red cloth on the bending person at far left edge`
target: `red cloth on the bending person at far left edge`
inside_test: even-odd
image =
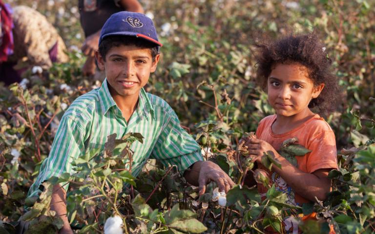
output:
[[[8,56],[13,54],[14,41],[12,29],[12,8],[9,4],[4,4],[0,0],[0,63],[8,60]]]

